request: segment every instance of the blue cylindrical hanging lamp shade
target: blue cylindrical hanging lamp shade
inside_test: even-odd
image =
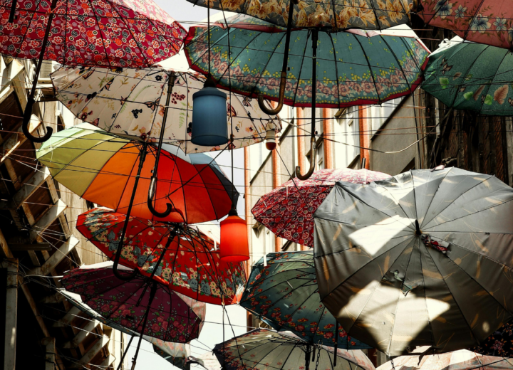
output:
[[[192,144],[216,147],[228,142],[227,95],[205,87],[192,95]]]

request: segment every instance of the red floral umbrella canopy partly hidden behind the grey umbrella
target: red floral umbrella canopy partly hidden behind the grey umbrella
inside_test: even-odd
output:
[[[313,247],[314,213],[336,182],[369,184],[389,177],[368,169],[321,169],[305,181],[296,177],[265,194],[252,213],[276,236]]]

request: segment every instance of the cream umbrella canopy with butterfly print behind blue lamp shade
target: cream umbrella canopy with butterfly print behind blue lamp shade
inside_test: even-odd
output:
[[[165,122],[165,142],[185,153],[208,152],[222,147],[203,147],[190,142],[192,95],[203,88],[205,78],[197,73],[163,68],[122,71],[105,68],[66,68],[52,73],[56,97],[76,117],[113,134],[130,135],[156,142],[160,137],[167,98],[167,79],[175,75],[170,109]],[[266,126],[273,118],[258,107],[257,100],[229,94],[228,132],[234,146],[246,147],[264,140]],[[279,120],[274,117],[278,129]]]

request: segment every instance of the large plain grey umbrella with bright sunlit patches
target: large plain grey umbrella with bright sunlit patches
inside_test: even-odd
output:
[[[314,214],[322,302],[388,356],[480,344],[512,317],[512,200],[457,168],[338,182]]]

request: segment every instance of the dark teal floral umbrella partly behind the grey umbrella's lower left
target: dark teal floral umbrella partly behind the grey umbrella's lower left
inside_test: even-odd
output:
[[[264,258],[266,263],[264,264]],[[252,268],[240,305],[280,332],[311,344],[367,349],[348,337],[318,295],[314,253],[269,253]]]

